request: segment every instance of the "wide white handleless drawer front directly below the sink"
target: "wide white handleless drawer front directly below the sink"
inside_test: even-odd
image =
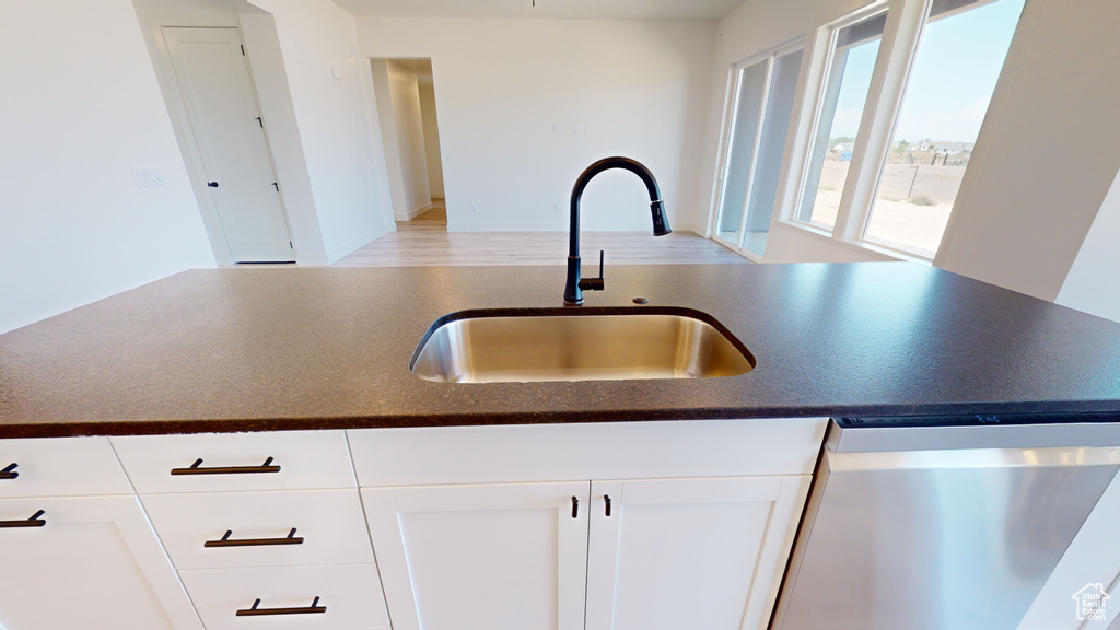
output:
[[[828,418],[349,429],[362,487],[812,474]]]

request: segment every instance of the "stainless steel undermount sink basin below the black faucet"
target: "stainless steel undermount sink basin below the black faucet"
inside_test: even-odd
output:
[[[412,355],[421,379],[528,382],[730,377],[750,352],[687,308],[465,311],[440,317]]]

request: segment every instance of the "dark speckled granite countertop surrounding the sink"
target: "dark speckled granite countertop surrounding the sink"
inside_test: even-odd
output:
[[[608,267],[586,307],[683,306],[739,377],[440,383],[431,323],[561,306],[561,267],[196,270],[0,335],[0,437],[1120,410],[1120,324],[913,263]]]

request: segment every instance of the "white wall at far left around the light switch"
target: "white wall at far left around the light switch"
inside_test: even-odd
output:
[[[130,0],[0,3],[0,332],[215,265]]]

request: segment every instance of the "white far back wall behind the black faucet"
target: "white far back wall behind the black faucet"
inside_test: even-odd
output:
[[[360,18],[357,26],[365,57],[431,58],[450,230],[566,230],[576,178],[612,155],[650,167],[673,228],[694,228],[711,22]],[[600,175],[584,198],[584,229],[651,229],[645,188],[628,173]]]

